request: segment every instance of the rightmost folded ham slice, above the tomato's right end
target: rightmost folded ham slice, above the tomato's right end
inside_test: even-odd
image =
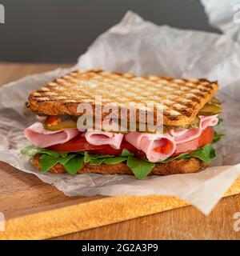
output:
[[[174,137],[176,144],[184,142],[190,142],[194,138],[198,138],[202,134],[202,130],[205,130],[207,126],[216,126],[218,124],[218,118],[216,115],[200,116],[200,126],[196,129],[185,130],[170,130],[170,135]]]

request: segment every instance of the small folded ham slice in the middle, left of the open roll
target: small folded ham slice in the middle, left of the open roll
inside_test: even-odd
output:
[[[110,145],[115,150],[119,150],[122,138],[124,134],[114,134],[114,133],[108,133],[103,132],[101,130],[94,130],[94,131],[86,131],[85,138],[86,141],[89,142],[92,145]]]

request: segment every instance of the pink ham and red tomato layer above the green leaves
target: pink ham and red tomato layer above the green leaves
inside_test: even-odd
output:
[[[149,134],[138,131],[117,134],[101,130],[81,132],[75,128],[46,130],[42,122],[35,122],[26,128],[25,135],[34,146],[58,152],[87,150],[94,151],[94,153],[103,152],[103,154],[115,155],[121,153],[122,145],[127,145],[126,149],[131,153],[142,151],[146,154],[146,159],[149,162],[159,162],[178,153],[198,150],[199,146],[205,146],[202,143],[199,145],[200,138],[204,140],[203,144],[210,143],[214,138],[214,132],[210,127],[217,124],[217,115],[200,116],[200,126],[190,130],[170,130],[164,134]]]

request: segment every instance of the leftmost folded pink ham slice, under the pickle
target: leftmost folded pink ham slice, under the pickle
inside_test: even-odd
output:
[[[65,129],[65,130],[45,130],[42,126],[42,122],[35,122],[32,126],[29,126],[25,130],[26,138],[34,144],[42,148],[53,146],[56,144],[62,144],[70,141],[70,139],[76,137],[79,134],[78,129]]]

